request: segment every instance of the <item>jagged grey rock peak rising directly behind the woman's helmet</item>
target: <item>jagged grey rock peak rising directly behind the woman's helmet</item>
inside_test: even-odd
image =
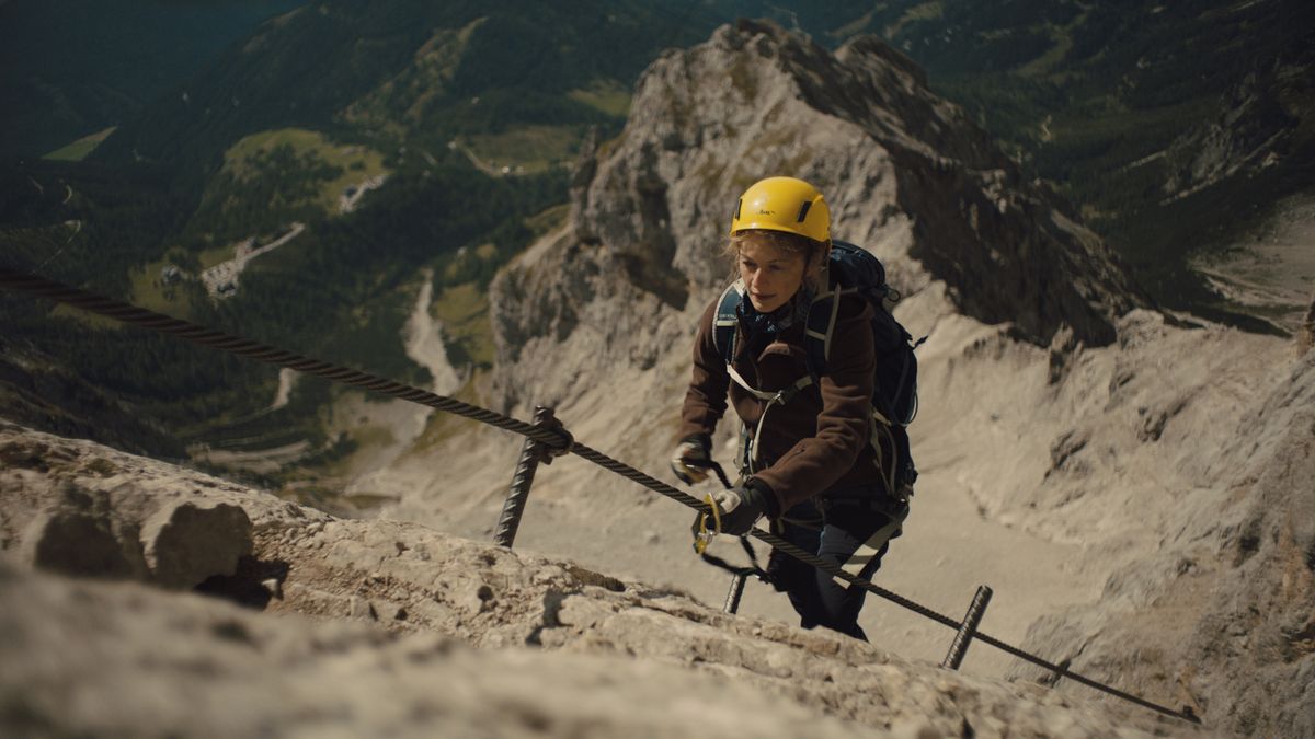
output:
[[[965,314],[1040,346],[1065,325],[1107,345],[1114,318],[1145,302],[899,53],[865,37],[831,54],[742,21],[650,66],[621,137],[583,147],[571,227],[494,281],[498,398],[568,398],[600,368],[684,348],[730,276],[735,199],[778,174],[821,187],[834,235],[881,258],[902,293],[943,281]]]

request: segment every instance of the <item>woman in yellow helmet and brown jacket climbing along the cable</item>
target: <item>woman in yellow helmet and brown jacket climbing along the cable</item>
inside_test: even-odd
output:
[[[909,514],[907,489],[874,442],[873,308],[828,289],[830,227],[822,193],[803,180],[768,178],[739,200],[726,246],[738,281],[698,323],[672,471],[686,484],[707,477],[729,396],[743,422],[740,479],[713,494],[721,533],[743,535],[765,515],[789,542],[871,579]],[[834,322],[825,373],[810,368],[815,300]],[[805,629],[867,640],[861,588],[776,551],[768,572]]]

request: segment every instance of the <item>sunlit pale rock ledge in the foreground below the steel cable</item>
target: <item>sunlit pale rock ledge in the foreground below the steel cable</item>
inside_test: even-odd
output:
[[[45,469],[0,471],[5,550],[25,546],[13,523],[64,505],[68,484],[112,523],[160,512],[143,531],[187,530],[203,510],[241,530],[237,508],[251,554],[199,590],[254,610],[0,558],[7,735],[1199,734],[1128,706],[726,615],[571,561],[418,525],[334,519],[89,442],[0,429],[0,450],[32,443],[45,444]]]

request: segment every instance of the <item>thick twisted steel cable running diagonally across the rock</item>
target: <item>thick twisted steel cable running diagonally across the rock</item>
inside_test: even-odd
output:
[[[638,483],[648,488],[650,490],[654,490],[668,498],[672,498],[676,502],[685,505],[686,508],[696,509],[701,513],[707,513],[707,514],[713,513],[711,506],[709,506],[707,502],[700,501],[693,496],[689,496],[688,493],[684,493],[668,485],[667,483],[658,480],[656,477],[646,475],[639,469],[630,467],[629,464],[618,462],[597,450],[593,450],[580,443],[579,441],[575,441],[564,429],[554,430],[544,426],[526,423],[525,421],[518,421],[515,418],[504,416],[501,413],[494,413],[492,410],[480,408],[477,405],[471,405],[468,402],[463,402],[451,397],[422,391],[419,388],[414,388],[410,385],[404,385],[401,383],[394,383],[392,380],[387,380],[377,375],[370,375],[367,372],[360,372],[358,370],[339,367],[335,364],[330,364],[327,362],[302,356],[268,345],[262,345],[251,339],[243,339],[233,334],[227,334],[214,329],[208,329],[205,326],[199,326],[196,323],[191,323],[180,318],[174,318],[160,313],[155,313],[145,308],[112,300],[80,288],[68,287],[66,284],[57,283],[54,280],[49,280],[26,272],[21,272],[9,267],[0,266],[0,287],[21,291],[37,297],[57,300],[59,302],[64,302],[74,308],[80,308],[91,313],[96,313],[100,316],[105,316],[108,318],[113,318],[116,321],[121,321],[124,323],[133,323],[137,326],[151,329],[154,331],[159,331],[162,334],[180,337],[189,342],[201,346],[220,348],[230,354],[235,354],[238,356],[259,359],[260,362],[267,362],[270,364],[277,364],[280,367],[287,367],[289,370],[296,370],[299,372],[306,372],[310,375],[327,377],[337,383],[343,383],[358,388],[366,388],[370,391],[380,392],[419,405],[426,405],[429,408],[435,408],[438,410],[443,410],[447,413],[455,413],[466,418],[480,421],[481,423],[497,426],[498,429],[513,431],[521,434],[522,437],[527,437],[546,444],[547,448],[544,450],[544,454],[551,454],[555,456],[567,452],[575,454],[583,459],[586,459],[597,464],[598,467],[602,467],[604,469],[608,469],[609,472],[621,475],[622,477]],[[886,601],[890,601],[903,609],[911,610],[924,618],[935,621],[942,626],[947,626],[953,630],[960,629],[960,622],[957,619],[938,613],[898,593],[881,588],[880,585],[873,584],[871,580],[851,575],[843,568],[836,567],[835,564],[786,542],[785,539],[777,536],[776,534],[763,531],[761,529],[752,529],[748,535],[775,547],[777,551],[781,551],[790,558],[794,558],[805,564],[815,567],[826,572],[827,575],[831,575],[832,577],[843,580],[851,585],[857,585],[874,596],[885,598]],[[1118,688],[1112,688],[1103,682],[1098,682],[1095,680],[1091,680],[1090,677],[1073,672],[1066,667],[1044,660],[1031,652],[1026,652],[1013,644],[1009,644],[1007,642],[1002,642],[1001,639],[997,639],[981,631],[973,632],[973,639],[990,644],[1018,659],[1022,659],[1040,668],[1044,668],[1049,672],[1053,672],[1060,677],[1068,677],[1076,682],[1081,682],[1088,688],[1101,690],[1110,696],[1115,696],[1118,698],[1136,703],[1145,709],[1151,709],[1164,715],[1180,718],[1184,721],[1189,721],[1191,723],[1201,723],[1201,719],[1197,718],[1195,714],[1193,714],[1190,710],[1176,711],[1173,709],[1151,702],[1145,698],[1127,693],[1124,690],[1119,690]]]

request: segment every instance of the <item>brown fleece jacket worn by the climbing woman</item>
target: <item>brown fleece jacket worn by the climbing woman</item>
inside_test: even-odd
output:
[[[726,371],[714,343],[714,300],[698,322],[694,368],[681,410],[680,438],[711,434],[726,413],[726,397],[752,434],[768,401],[759,400]],[[818,494],[859,487],[881,488],[881,473],[869,443],[872,434],[872,308],[861,298],[844,298],[831,338],[827,373],[789,402],[772,405],[759,438],[752,477],[765,483],[781,506]],[[746,327],[736,329],[735,371],[753,388],[776,392],[806,376],[803,322],[784,329],[773,343],[750,356]]]

